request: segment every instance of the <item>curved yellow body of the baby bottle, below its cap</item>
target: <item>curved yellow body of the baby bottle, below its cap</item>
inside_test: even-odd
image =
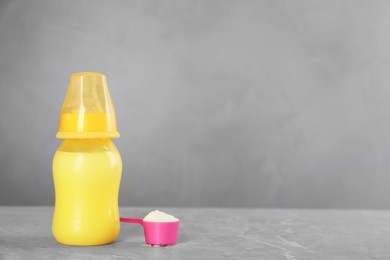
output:
[[[65,139],[53,159],[52,231],[67,245],[102,245],[119,234],[119,151],[110,139]]]

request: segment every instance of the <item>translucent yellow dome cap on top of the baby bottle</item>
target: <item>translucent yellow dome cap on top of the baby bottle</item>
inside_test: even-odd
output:
[[[118,138],[106,76],[80,72],[70,77],[57,138]]]

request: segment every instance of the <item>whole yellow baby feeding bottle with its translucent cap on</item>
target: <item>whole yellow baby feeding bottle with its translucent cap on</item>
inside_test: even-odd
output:
[[[73,74],[62,104],[53,159],[55,208],[52,231],[62,244],[91,246],[119,234],[121,156],[116,116],[106,77]]]

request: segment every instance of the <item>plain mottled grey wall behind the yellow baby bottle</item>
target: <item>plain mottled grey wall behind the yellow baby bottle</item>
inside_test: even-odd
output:
[[[0,204],[53,204],[79,71],[108,77],[122,206],[390,208],[388,1],[1,1]]]

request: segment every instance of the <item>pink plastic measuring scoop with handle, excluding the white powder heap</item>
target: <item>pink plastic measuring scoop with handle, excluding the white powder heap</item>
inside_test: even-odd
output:
[[[177,242],[179,220],[173,222],[151,222],[142,218],[120,218],[120,222],[139,224],[144,228],[145,242],[152,246],[172,246]]]

